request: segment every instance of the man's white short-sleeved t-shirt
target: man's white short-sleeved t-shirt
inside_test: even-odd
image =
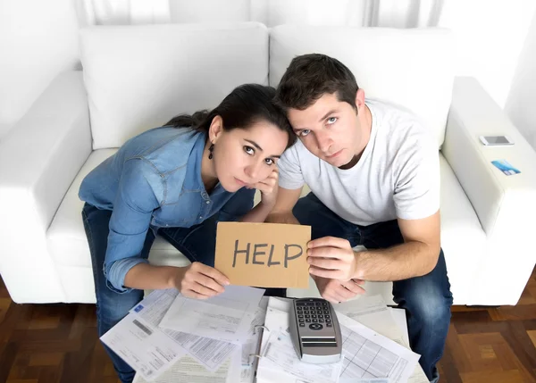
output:
[[[431,216],[440,208],[439,150],[432,132],[397,105],[371,99],[365,104],[372,113],[371,137],[353,168],[322,161],[298,140],[281,156],[280,186],[306,184],[322,204],[356,225]]]

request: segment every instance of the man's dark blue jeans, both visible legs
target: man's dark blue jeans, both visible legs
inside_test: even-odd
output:
[[[397,221],[359,226],[331,212],[313,193],[300,198],[293,212],[302,225],[311,226],[313,238],[341,237],[348,239],[352,247],[362,245],[367,249],[404,243]],[[412,350],[421,354],[419,363],[426,377],[436,381],[436,363],[445,347],[452,305],[443,251],[429,274],[393,282],[393,296],[398,306],[406,310]]]

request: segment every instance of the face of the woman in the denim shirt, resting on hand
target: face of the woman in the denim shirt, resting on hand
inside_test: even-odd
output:
[[[214,131],[211,127],[209,138],[214,143],[215,175],[229,192],[266,179],[289,142],[287,132],[266,121],[255,122],[247,129]]]

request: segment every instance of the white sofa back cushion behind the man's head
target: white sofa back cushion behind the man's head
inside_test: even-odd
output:
[[[400,104],[445,137],[452,97],[453,48],[447,29],[282,25],[270,33],[270,85],[300,54],[327,54],[354,73],[365,96]]]

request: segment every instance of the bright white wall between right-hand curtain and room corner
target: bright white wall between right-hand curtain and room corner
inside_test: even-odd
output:
[[[501,108],[535,11],[534,0],[448,0],[443,4],[439,25],[454,31],[456,74],[478,79]]]

